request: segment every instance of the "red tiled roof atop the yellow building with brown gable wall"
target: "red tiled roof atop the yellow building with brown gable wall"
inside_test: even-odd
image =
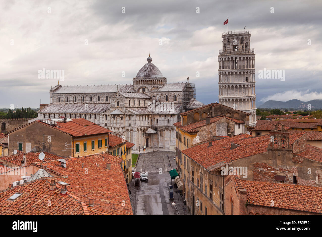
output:
[[[42,123],[47,126],[50,126],[47,123],[44,123],[42,121],[35,121],[36,123]],[[87,135],[93,135],[93,134],[102,134],[102,133],[110,133],[111,131],[109,129],[103,128],[95,123],[92,123],[86,119],[73,119],[71,122],[67,123],[58,123],[57,127],[52,128],[58,129],[64,133],[68,133],[73,137],[79,137],[79,136],[87,136]]]

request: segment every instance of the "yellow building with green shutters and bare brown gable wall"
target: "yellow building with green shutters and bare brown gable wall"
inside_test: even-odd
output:
[[[8,133],[8,155],[46,151],[78,157],[108,151],[109,129],[86,119],[51,119],[28,123]]]

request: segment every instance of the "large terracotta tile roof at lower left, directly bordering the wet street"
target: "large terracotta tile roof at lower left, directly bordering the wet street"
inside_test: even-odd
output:
[[[120,167],[122,158],[99,153],[65,160],[66,168],[55,160],[48,161],[45,169],[64,176],[55,179],[70,184],[67,190],[86,205],[90,199],[94,199],[94,207],[88,206],[90,214],[133,215],[127,184]],[[110,170],[106,169],[108,161]],[[36,165],[40,167],[40,163]]]

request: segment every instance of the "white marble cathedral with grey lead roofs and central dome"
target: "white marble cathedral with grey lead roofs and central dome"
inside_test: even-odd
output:
[[[160,110],[149,103],[169,103]],[[41,108],[37,120],[84,118],[139,146],[175,149],[175,126],[180,113],[203,106],[196,100],[194,84],[167,83],[161,71],[147,58],[133,84],[62,86],[50,89],[50,104]],[[152,107],[152,106],[150,106]]]

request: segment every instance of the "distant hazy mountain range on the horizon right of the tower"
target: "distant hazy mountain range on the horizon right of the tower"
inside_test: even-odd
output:
[[[278,100],[268,100],[264,104],[256,105],[257,108],[272,108],[272,109],[308,109],[308,104],[311,104],[312,109],[322,108],[322,100],[310,100],[310,101],[300,101],[300,100],[289,100],[289,101],[278,101]]]

